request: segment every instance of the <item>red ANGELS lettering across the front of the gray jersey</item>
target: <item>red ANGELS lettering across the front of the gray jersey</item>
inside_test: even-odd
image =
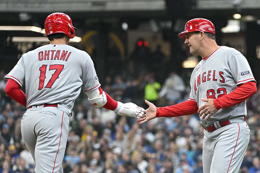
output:
[[[207,81],[215,81],[215,82],[221,82],[225,83],[225,78],[224,78],[224,72],[222,71],[216,71],[216,70],[208,70],[206,72],[203,72],[202,74],[199,74],[195,79],[194,79],[194,91],[196,94],[197,87],[204,82]]]

